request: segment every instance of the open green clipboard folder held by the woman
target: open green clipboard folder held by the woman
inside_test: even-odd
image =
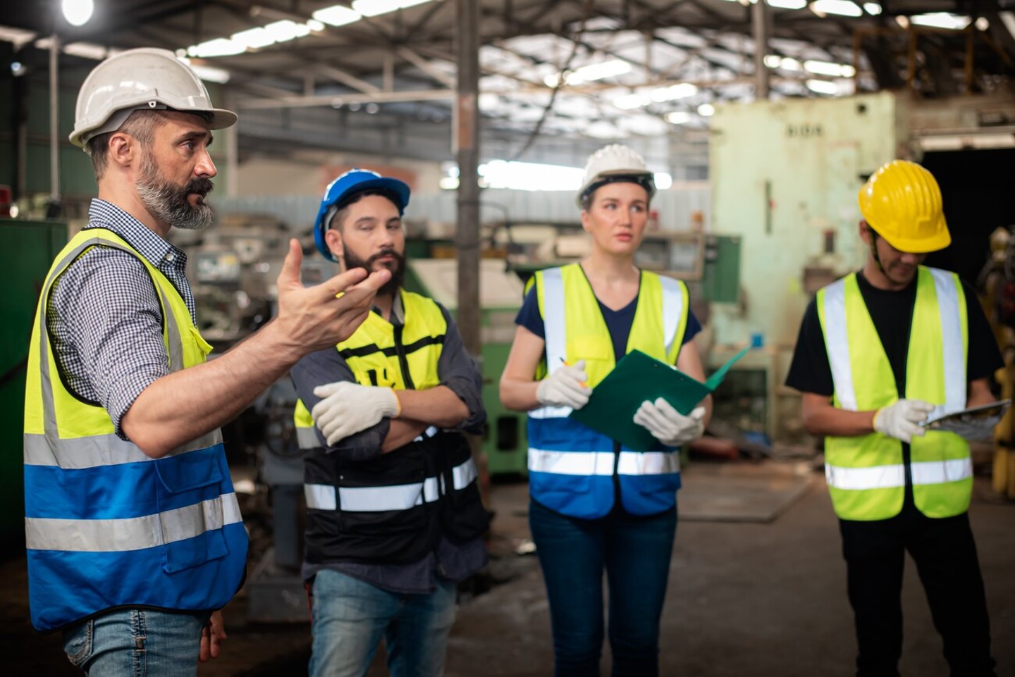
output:
[[[688,414],[719,387],[733,363],[748,350],[750,346],[731,357],[704,383],[640,350],[632,350],[592,390],[589,403],[571,411],[570,417],[635,452],[647,452],[656,445],[656,438],[634,422],[634,412],[641,403],[662,397],[680,413]]]

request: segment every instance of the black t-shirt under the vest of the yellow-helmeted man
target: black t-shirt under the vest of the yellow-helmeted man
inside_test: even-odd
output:
[[[891,364],[892,373],[895,375],[899,397],[904,397],[905,355],[909,347],[912,309],[917,302],[916,277],[909,286],[899,291],[878,289],[867,281],[862,272],[857,273],[857,282],[874,327],[881,338],[881,345],[884,346],[885,354],[888,356],[888,363]],[[976,294],[965,282],[962,282],[962,291],[965,293],[969,337],[966,380],[971,382],[992,376],[994,371],[1004,366],[1004,362]],[[804,393],[829,397],[834,392],[816,299],[811,299],[804,313],[786,385]]]

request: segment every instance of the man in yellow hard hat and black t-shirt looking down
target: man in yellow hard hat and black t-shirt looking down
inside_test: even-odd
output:
[[[993,676],[966,513],[969,445],[921,423],[992,401],[1001,355],[972,290],[954,273],[921,265],[951,242],[931,173],[888,162],[861,189],[860,210],[867,263],[811,301],[787,378],[803,393],[804,426],[825,437],[856,616],[857,675],[899,674],[908,551],[951,674]]]

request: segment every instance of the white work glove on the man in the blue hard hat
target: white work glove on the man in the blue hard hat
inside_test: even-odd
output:
[[[349,381],[318,386],[314,394],[322,398],[311,416],[329,445],[377,425],[385,416],[398,416],[402,407],[391,388],[360,386]]]

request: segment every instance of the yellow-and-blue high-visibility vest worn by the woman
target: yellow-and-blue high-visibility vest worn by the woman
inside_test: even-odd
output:
[[[586,363],[594,388],[614,365],[613,342],[599,303],[580,264],[549,268],[533,276],[543,318],[546,361],[536,378]],[[641,272],[637,307],[625,352],[640,350],[674,364],[687,327],[688,294],[683,282]],[[614,477],[624,509],[654,515],[676,502],[680,450],[657,444],[636,452],[568,417],[569,407],[529,412],[529,490],[534,499],[583,519],[607,515],[614,502]]]

